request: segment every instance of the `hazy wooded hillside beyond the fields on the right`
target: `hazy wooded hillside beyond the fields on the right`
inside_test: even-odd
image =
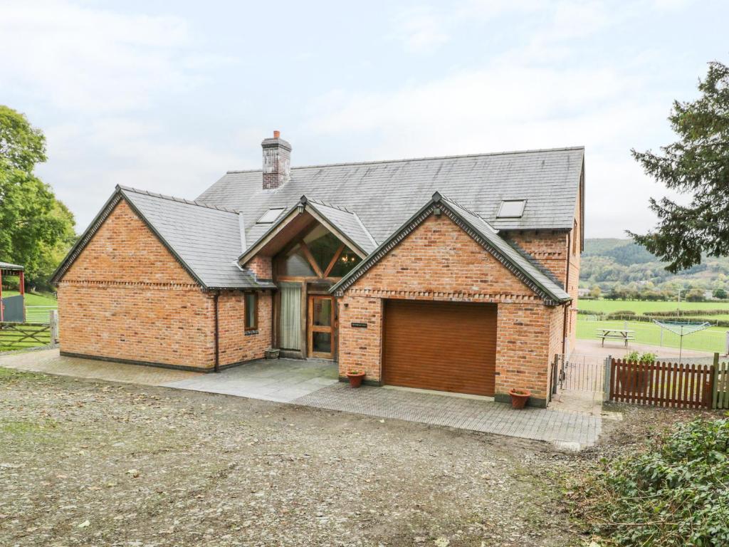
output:
[[[729,281],[728,257],[702,257],[701,264],[679,274],[666,271],[666,263],[630,239],[585,239],[580,268],[580,286],[598,285],[606,290],[615,284],[679,283],[688,287],[725,288]]]

